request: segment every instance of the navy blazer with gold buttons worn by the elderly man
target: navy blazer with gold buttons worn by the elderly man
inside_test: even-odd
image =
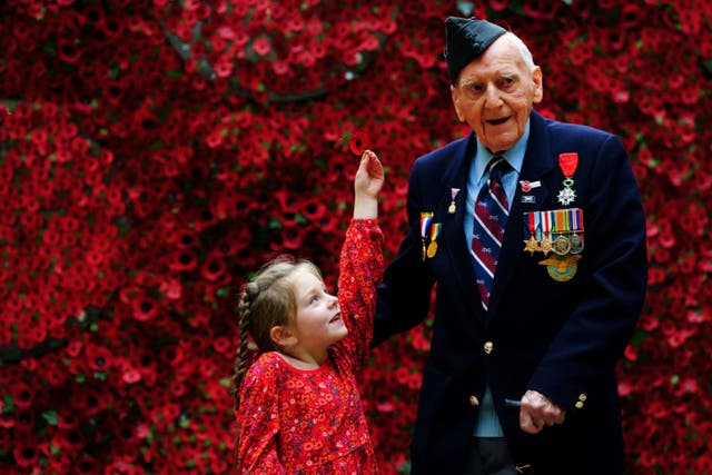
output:
[[[585,126],[531,116],[531,132],[496,268],[487,315],[465,241],[467,175],[474,135],[418,158],[407,198],[409,231],[378,289],[374,344],[427,316],[435,288],[431,353],[412,442],[413,474],[462,474],[488,383],[516,465],[545,475],[623,472],[616,362],[629,342],[646,286],[645,218],[619,138]],[[575,199],[557,201],[558,155],[577,152]],[[536,184],[538,182],[538,184]],[[448,212],[452,188],[459,188]],[[526,196],[526,198],[523,198]],[[577,207],[584,244],[573,278],[550,277],[542,253],[524,250],[524,212]],[[421,212],[441,222],[438,250],[423,259]],[[521,431],[504,404],[535,389],[566,409],[562,425]]]

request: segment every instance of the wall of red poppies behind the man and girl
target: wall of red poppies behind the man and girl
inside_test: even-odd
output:
[[[236,294],[278,253],[330,284],[365,147],[407,172],[466,132],[449,14],[531,46],[544,115],[622,137],[650,293],[620,365],[631,474],[712,474],[712,3],[689,0],[6,0],[0,4],[0,472],[227,473]],[[379,347],[384,473],[429,325]]]

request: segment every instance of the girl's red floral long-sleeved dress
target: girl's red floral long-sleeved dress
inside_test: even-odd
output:
[[[376,219],[352,219],[339,261],[338,301],[348,335],[316,369],[265,353],[241,386],[240,474],[377,474],[356,375],[368,354],[383,276]]]

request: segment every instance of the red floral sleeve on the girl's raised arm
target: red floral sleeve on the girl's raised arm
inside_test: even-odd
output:
[[[339,260],[338,301],[348,336],[335,345],[357,372],[374,331],[376,287],[383,279],[384,236],[377,219],[352,219]]]

